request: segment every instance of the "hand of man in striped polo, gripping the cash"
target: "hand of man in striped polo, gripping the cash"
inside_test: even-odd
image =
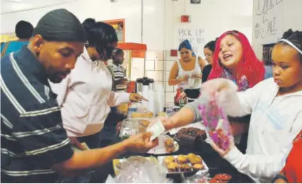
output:
[[[137,153],[146,153],[151,148],[158,145],[158,139],[150,140],[151,133],[145,132],[141,134],[132,135],[129,139],[126,139],[127,150]]]

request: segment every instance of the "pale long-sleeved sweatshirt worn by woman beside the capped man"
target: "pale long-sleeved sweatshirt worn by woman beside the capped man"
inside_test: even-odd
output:
[[[129,93],[115,93],[112,76],[103,62],[92,62],[84,49],[75,68],[59,84],[52,84],[62,105],[62,120],[69,137],[100,132],[110,107],[129,101]]]

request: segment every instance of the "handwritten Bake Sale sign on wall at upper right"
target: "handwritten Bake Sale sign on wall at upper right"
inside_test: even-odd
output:
[[[261,44],[277,42],[284,29],[284,0],[254,0],[253,37]]]

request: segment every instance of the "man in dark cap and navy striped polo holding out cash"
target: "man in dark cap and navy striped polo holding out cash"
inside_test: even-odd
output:
[[[2,183],[53,183],[59,174],[74,176],[158,144],[146,133],[103,149],[71,149],[48,80],[58,83],[70,73],[85,42],[76,16],[58,9],[40,19],[28,47],[1,57]]]

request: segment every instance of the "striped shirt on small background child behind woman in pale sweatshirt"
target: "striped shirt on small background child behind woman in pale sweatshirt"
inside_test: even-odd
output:
[[[122,67],[121,64],[114,64],[114,63],[110,63],[108,65],[108,69],[110,70],[110,73],[112,74],[112,78],[113,78],[113,89],[116,92],[124,92],[127,89],[127,86],[123,85],[123,84],[117,84],[117,81],[119,81],[120,79],[124,79],[124,76],[126,76],[126,69],[124,69],[124,67]]]

